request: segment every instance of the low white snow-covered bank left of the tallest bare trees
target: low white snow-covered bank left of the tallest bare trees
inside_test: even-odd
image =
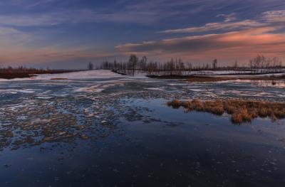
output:
[[[12,80],[0,79],[0,81],[16,80],[76,80],[76,79],[104,79],[104,78],[125,78],[127,76],[113,73],[110,70],[86,70],[72,73],[40,74],[32,78],[16,78]]]

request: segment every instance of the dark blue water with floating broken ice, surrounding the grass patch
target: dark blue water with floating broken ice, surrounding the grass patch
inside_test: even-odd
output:
[[[284,120],[165,105],[221,97],[285,102],[284,82],[0,82],[1,186],[284,186]]]

